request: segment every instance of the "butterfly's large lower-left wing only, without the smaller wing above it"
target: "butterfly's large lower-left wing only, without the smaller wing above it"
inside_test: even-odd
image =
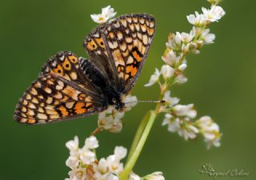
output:
[[[16,106],[14,119],[27,124],[58,122],[101,111],[93,96],[57,74],[39,77]]]

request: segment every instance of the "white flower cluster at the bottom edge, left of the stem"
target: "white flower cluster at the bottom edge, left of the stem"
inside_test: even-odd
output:
[[[66,180],[118,180],[118,174],[123,170],[121,160],[126,157],[126,148],[116,146],[114,154],[98,160],[95,150],[98,140],[94,136],[86,138],[82,148],[79,148],[78,137],[66,142],[66,147],[70,150],[66,166],[71,169],[70,178]]]

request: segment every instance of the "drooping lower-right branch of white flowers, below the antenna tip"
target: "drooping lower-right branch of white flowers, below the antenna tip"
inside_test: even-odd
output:
[[[177,132],[185,140],[197,138],[198,134],[202,134],[207,148],[220,146],[221,133],[219,132],[218,124],[209,116],[203,116],[193,121],[197,116],[194,105],[178,104],[178,98],[171,98],[170,91],[166,91],[164,100],[166,105],[162,106],[161,110],[166,114],[162,126],[167,125],[170,132]]]

